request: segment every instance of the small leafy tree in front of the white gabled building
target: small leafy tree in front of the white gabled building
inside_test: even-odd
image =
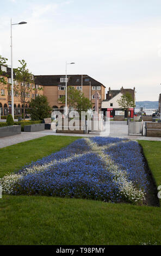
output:
[[[120,100],[117,100],[119,103],[119,106],[124,110],[127,111],[127,117],[128,117],[128,109],[131,107],[135,107],[135,101],[132,98],[132,95],[127,92],[126,94],[123,94],[121,96]]]

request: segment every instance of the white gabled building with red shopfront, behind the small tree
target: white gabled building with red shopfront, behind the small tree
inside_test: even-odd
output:
[[[134,108],[129,108],[128,113],[127,111],[123,111],[120,108],[119,103],[117,100],[121,99],[122,95],[126,93],[130,93],[132,95],[132,99],[135,102],[135,87],[133,89],[124,89],[123,87],[120,90],[111,90],[109,87],[108,93],[106,94],[106,100],[102,101],[102,111],[104,115],[106,112],[108,113],[108,117],[114,117],[115,115],[123,115],[125,117],[132,117],[134,115]]]

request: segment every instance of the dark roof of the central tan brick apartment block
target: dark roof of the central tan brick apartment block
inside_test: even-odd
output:
[[[38,75],[35,77],[35,84],[39,84],[41,86],[63,86],[65,83],[60,82],[60,78],[65,78],[65,75]],[[69,79],[67,82],[68,86],[81,86],[82,85],[82,75],[67,75]],[[85,81],[89,80],[89,81]],[[105,86],[96,81],[94,78],[83,75],[83,86],[89,86],[89,82],[91,82],[91,86]]]

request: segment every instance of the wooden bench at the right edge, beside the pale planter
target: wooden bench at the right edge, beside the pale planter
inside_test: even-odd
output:
[[[147,137],[161,137],[161,123],[145,123]]]

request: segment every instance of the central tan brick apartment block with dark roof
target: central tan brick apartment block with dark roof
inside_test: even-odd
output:
[[[54,110],[63,111],[65,104],[60,102],[60,98],[65,95],[65,75],[36,75],[35,83],[44,86],[44,95],[47,96],[49,105]],[[83,86],[82,86],[83,85]],[[88,97],[92,102],[92,108],[95,107],[95,93],[100,95],[99,108],[101,102],[105,99],[105,86],[88,75],[68,75],[67,86],[75,87],[83,92],[85,97]]]

